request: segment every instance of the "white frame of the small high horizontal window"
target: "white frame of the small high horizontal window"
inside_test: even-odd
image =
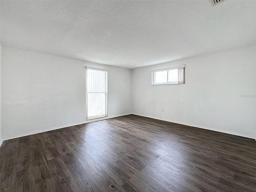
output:
[[[178,81],[173,81],[173,82],[168,82],[168,71],[170,70],[175,70],[175,69],[179,69],[179,68],[185,68],[185,65],[180,65],[180,66],[173,66],[173,67],[166,67],[166,68],[159,68],[159,69],[154,69],[152,70],[151,72],[151,85],[175,85],[175,84],[185,84],[185,81],[184,83],[179,83]],[[166,75],[166,82],[160,82],[160,83],[156,83],[155,82],[155,75],[156,75],[156,72],[163,72],[163,71],[166,71],[167,72],[167,75]],[[185,76],[185,70],[184,70],[184,74]],[[184,80],[185,80],[185,77],[184,77]]]

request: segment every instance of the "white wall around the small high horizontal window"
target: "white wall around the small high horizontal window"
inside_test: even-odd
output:
[[[182,64],[186,84],[151,85],[152,69]],[[250,138],[256,138],[255,94],[256,46],[132,70],[134,114]]]

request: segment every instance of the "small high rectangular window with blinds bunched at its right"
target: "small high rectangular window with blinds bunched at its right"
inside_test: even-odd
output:
[[[152,70],[152,85],[185,83],[185,65]]]

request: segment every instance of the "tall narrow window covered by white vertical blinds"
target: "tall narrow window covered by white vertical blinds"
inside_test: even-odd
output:
[[[108,116],[108,72],[86,66],[86,120]]]

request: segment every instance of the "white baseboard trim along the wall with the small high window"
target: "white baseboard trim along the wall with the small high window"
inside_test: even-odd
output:
[[[152,117],[152,116],[147,116],[147,115],[142,115],[142,114],[137,114],[137,113],[132,113],[132,114],[133,114],[133,115],[142,116],[142,117],[148,117],[148,118],[152,118],[152,119],[157,119],[157,120],[162,120],[162,121],[177,123],[177,124],[181,124],[181,125],[187,125],[187,126],[191,126],[191,127],[197,127],[197,128],[202,128],[202,129],[207,129],[207,130],[212,130],[212,131],[227,133],[227,134],[231,134],[231,135],[246,137],[246,138],[250,138],[250,139],[255,139],[255,141],[256,141],[256,138],[254,138],[254,137],[252,137],[252,136],[250,136],[250,135],[241,134],[241,133],[237,133],[237,132],[231,132],[231,131],[226,131],[226,130],[221,130],[221,129],[215,129],[215,128],[210,128],[210,127],[205,127],[205,126],[200,126],[200,125],[194,125],[194,124],[187,124],[187,123],[178,122],[178,121],[171,121],[171,120],[167,120],[167,119],[162,119],[162,118],[157,118],[157,117]]]

